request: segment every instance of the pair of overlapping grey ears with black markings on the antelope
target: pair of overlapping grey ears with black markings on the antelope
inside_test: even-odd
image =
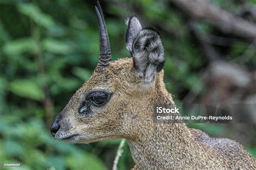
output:
[[[158,33],[142,29],[136,17],[127,22],[126,46],[133,57],[133,66],[147,83],[156,77],[164,66],[164,46]]]

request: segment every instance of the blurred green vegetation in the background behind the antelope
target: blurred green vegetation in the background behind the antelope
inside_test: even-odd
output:
[[[138,15],[146,26],[160,32],[166,56],[165,83],[177,103],[191,95],[193,102],[203,102],[204,94],[211,89],[201,78],[215,59],[207,52],[209,49],[213,56],[218,54],[221,60],[238,65],[248,75],[256,75],[255,40],[219,30],[211,21],[194,21],[172,1],[100,3],[113,59],[130,56],[124,40],[127,17]],[[211,3],[255,24],[255,0]],[[54,117],[97,65],[95,4],[82,0],[0,0],[1,163],[20,162],[18,169],[112,168],[120,139],[71,145],[53,139],[49,133]],[[253,12],[242,13],[243,6]],[[250,82],[251,87],[256,81]],[[235,90],[239,89],[231,92]],[[214,137],[235,139],[256,157],[255,125],[188,126]],[[118,167],[129,169],[133,165],[125,144]]]

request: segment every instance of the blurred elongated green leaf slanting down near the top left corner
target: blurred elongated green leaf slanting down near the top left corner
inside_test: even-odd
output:
[[[21,3],[17,5],[19,12],[30,17],[35,23],[43,26],[44,28],[51,28],[55,26],[52,18],[41,12],[41,10],[34,4]]]

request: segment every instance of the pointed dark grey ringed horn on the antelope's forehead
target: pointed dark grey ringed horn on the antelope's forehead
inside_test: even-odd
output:
[[[109,36],[107,35],[104,16],[98,1],[97,6],[95,6],[95,9],[99,20],[99,62],[97,67],[105,67],[109,65],[109,62],[112,60]]]

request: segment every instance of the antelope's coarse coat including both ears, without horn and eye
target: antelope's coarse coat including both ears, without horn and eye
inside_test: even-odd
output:
[[[72,143],[125,138],[139,169],[255,169],[253,157],[233,140],[208,137],[183,123],[153,123],[154,104],[175,106],[163,81],[164,47],[158,33],[143,29],[138,18],[131,17],[127,25],[132,58],[96,67],[56,117],[54,137]],[[80,113],[92,91],[111,97]]]

